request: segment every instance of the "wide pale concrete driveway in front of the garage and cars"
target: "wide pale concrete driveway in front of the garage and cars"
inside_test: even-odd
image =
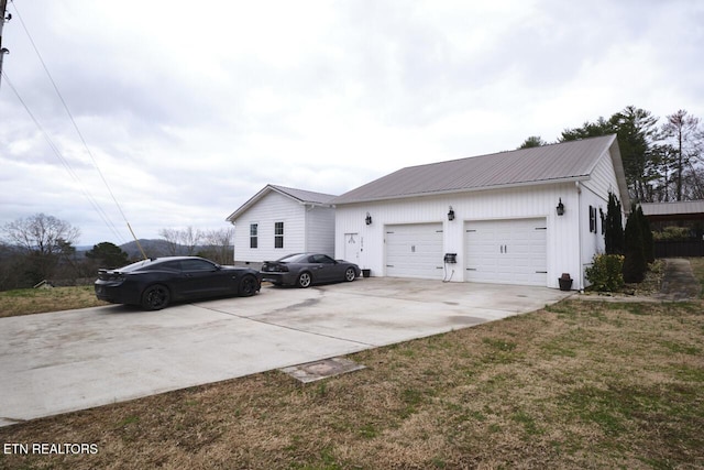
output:
[[[114,305],[0,318],[0,426],[471,327],[566,295],[372,277],[161,311]]]

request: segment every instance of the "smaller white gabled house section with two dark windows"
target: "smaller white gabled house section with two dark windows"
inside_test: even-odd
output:
[[[235,226],[235,264],[286,254],[334,254],[334,195],[266,185],[226,220]]]

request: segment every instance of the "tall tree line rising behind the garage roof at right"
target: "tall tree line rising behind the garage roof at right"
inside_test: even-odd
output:
[[[557,142],[616,134],[629,197],[638,203],[704,199],[704,128],[700,118],[681,109],[664,120],[627,106],[613,113],[565,129]],[[546,145],[539,135],[519,149]]]

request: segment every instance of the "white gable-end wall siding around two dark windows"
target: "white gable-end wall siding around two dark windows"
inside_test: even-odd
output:
[[[238,218],[234,261],[262,262],[305,251],[306,207],[272,192]],[[274,248],[274,223],[284,222],[284,248]],[[258,226],[258,247],[250,248],[250,226]]]

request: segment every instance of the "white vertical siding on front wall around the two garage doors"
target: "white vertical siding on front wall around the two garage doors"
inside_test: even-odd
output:
[[[565,206],[565,214],[558,217],[556,206],[560,198]],[[547,286],[558,287],[558,277],[562,273],[570,273],[573,278],[578,278],[582,270],[579,255],[579,205],[580,198],[574,183],[338,205],[336,256],[343,255],[344,233],[359,233],[360,267],[370,269],[373,276],[384,276],[384,233],[387,225],[440,222],[443,227],[443,252],[458,253],[452,281],[463,282],[466,221],[544,218],[548,247]],[[448,220],[450,206],[455,214],[452,221]],[[364,222],[367,212],[372,217],[372,223],[369,226]]]

